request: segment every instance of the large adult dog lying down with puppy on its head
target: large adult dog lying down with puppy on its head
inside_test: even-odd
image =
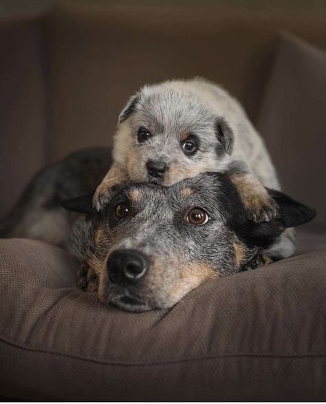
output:
[[[117,185],[98,212],[91,190],[109,161],[109,149],[94,148],[43,169],[0,234],[68,248],[73,226],[72,248],[82,262],[80,288],[125,310],[169,308],[207,279],[267,264],[270,246],[285,229],[315,215],[268,189],[279,206],[276,217],[248,220],[237,187],[223,173],[202,173],[171,187]]]

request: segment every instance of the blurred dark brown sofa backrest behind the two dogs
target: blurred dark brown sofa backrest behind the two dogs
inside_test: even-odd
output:
[[[44,164],[111,144],[145,83],[204,76],[256,125],[284,30],[325,50],[325,1],[1,1],[0,217]]]

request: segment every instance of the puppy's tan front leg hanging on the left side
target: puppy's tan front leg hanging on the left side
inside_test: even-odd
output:
[[[120,169],[120,167],[111,167],[103,178],[100,185],[98,185],[94,197],[93,206],[100,211],[105,207],[111,198],[111,188],[116,184],[123,184],[127,180],[127,173]]]

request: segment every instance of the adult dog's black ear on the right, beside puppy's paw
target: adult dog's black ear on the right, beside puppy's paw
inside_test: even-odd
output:
[[[279,205],[279,213],[276,220],[283,222],[285,227],[299,226],[300,224],[310,222],[316,216],[315,209],[297,202],[285,193],[276,191],[275,189],[267,190]]]

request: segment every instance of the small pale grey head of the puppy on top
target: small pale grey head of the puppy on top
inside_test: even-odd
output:
[[[233,141],[228,123],[204,100],[180,82],[166,82],[131,97],[119,117],[113,153],[131,180],[171,186],[221,171]]]

